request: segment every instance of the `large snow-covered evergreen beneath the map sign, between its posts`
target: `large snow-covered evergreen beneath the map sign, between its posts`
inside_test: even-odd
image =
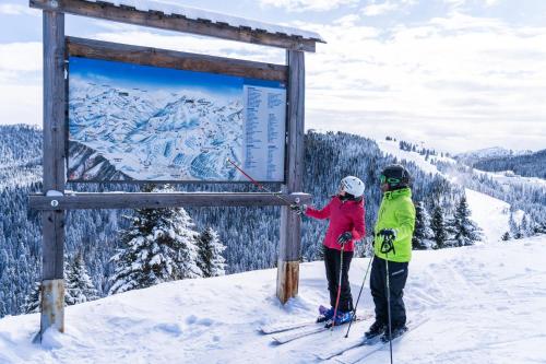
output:
[[[129,219],[131,226],[120,234],[122,248],[111,258],[116,271],[109,294],[202,275],[199,233],[185,209],[140,209]]]

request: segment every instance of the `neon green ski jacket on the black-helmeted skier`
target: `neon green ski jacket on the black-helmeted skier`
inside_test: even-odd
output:
[[[389,260],[410,261],[412,259],[412,237],[415,228],[415,207],[412,202],[412,190],[410,188],[383,193],[378,220],[373,228],[373,251],[379,258],[387,259],[387,255],[380,250],[383,238],[378,235],[383,228],[392,228],[396,232],[393,244],[394,251],[388,254]]]

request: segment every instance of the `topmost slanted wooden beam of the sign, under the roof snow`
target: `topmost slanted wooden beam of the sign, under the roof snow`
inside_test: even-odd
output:
[[[191,20],[176,14],[163,14],[161,12],[134,10],[128,7],[116,7],[110,3],[82,0],[29,0],[29,5],[31,8],[41,10],[285,49],[314,51],[317,42],[317,39],[305,39],[285,34],[257,32],[242,26],[235,27],[226,24]]]

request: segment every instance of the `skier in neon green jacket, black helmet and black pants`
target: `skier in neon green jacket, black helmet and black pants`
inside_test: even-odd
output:
[[[373,262],[371,265],[370,291],[376,305],[376,321],[365,333],[366,339],[382,336],[382,341],[392,340],[406,328],[406,312],[403,295],[407,279],[407,266],[412,259],[412,237],[415,227],[415,207],[410,189],[410,174],[399,164],[381,173],[383,199],[373,228]],[[391,330],[389,330],[387,268],[389,270]]]

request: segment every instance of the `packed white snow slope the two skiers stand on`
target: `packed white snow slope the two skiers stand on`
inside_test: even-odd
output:
[[[545,363],[546,236],[415,251],[405,302],[428,321],[394,344],[396,363]],[[368,258],[351,269],[356,294]],[[327,303],[322,262],[302,263],[297,298],[275,298],[274,269],[185,280],[66,309],[66,333],[32,344],[39,316],[0,320],[0,363],[313,363],[360,340],[370,321],[275,345],[261,325],[312,320]],[[365,287],[360,313],[371,313]],[[358,357],[358,351],[346,357]],[[366,363],[388,363],[380,350]]]

